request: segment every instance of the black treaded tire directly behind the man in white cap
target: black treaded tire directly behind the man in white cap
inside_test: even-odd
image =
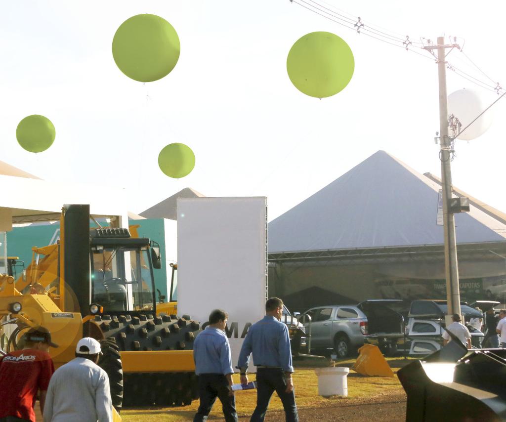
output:
[[[111,391],[112,405],[119,412],[123,403],[123,367],[118,346],[108,340],[100,342],[102,355],[98,365],[109,375],[109,388]]]

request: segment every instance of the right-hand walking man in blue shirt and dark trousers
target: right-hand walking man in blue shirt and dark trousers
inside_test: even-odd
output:
[[[283,403],[286,422],[298,422],[291,378],[290,336],[288,327],[281,322],[283,301],[269,299],[265,303],[265,311],[265,317],[249,327],[237,364],[241,371],[241,384],[247,384],[246,370],[249,355],[253,353],[253,362],[257,367],[257,407],[250,422],[263,422],[274,391]]]

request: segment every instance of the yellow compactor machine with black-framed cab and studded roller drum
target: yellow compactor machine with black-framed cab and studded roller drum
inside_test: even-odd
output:
[[[91,336],[102,344],[99,365],[116,409],[190,404],[200,325],[157,313],[158,245],[124,228],[90,229],[90,218],[89,205],[65,205],[58,244],[32,248],[34,260],[18,280],[1,276],[0,328],[10,331],[3,348],[21,348],[25,330],[45,326],[59,344],[50,349],[58,367]]]

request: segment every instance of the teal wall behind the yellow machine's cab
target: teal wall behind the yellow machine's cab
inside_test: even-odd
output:
[[[100,222],[100,221],[99,221]],[[108,226],[107,223],[101,223],[103,227]],[[139,237],[148,237],[150,240],[160,244],[161,268],[153,269],[155,278],[155,287],[160,290],[161,294],[167,297],[167,261],[165,259],[165,224],[163,219],[148,220],[131,220],[130,225],[139,225]],[[91,224],[90,227],[97,227]],[[60,223],[41,225],[14,227],[12,231],[7,232],[7,255],[9,257],[19,257],[24,261],[25,268],[28,267],[32,260],[33,246],[41,247],[54,244],[60,238]],[[158,292],[155,293],[158,299]]]

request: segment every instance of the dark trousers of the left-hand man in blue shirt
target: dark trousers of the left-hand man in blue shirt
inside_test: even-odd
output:
[[[207,415],[211,411],[213,404],[215,404],[217,397],[222,402],[223,415],[226,422],[237,422],[235,397],[229,396],[227,386],[227,378],[221,373],[202,373],[198,376],[200,406],[198,406],[198,411],[195,413],[193,422],[207,420]]]

